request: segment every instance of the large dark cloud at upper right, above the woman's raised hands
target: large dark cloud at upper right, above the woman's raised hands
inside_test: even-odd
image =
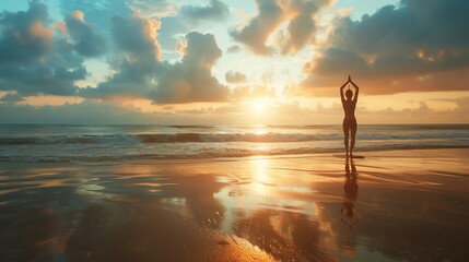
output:
[[[469,68],[469,2],[464,0],[402,0],[397,7],[387,5],[361,21],[341,17],[328,45],[309,66],[310,86],[337,84],[337,75],[360,75],[367,81],[387,83],[404,78],[431,78],[448,71],[460,73],[458,80],[426,90],[467,90],[460,81]],[[437,81],[436,82],[441,82]],[[396,93],[415,90],[411,85],[384,85],[372,93]],[[379,88],[379,87],[376,87]],[[423,88],[425,90],[425,88]]]

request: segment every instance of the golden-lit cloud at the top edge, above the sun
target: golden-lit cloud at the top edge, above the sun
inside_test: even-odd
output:
[[[269,56],[277,49],[282,53],[295,53],[314,36],[314,15],[329,0],[256,0],[259,13],[241,29],[232,31],[232,37],[245,44],[257,55]],[[277,46],[270,45],[269,37],[286,23],[288,27],[277,35]]]

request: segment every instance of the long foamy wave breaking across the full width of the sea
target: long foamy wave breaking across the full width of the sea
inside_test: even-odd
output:
[[[341,140],[342,133],[159,133],[0,138],[1,145],[113,144],[113,143],[225,143],[225,142],[308,142]],[[468,139],[469,132],[359,133],[357,140]]]

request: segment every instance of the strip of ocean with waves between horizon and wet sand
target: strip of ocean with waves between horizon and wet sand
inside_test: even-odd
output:
[[[355,152],[469,147],[469,124],[360,124]],[[343,152],[337,126],[0,124],[0,162],[94,163]]]

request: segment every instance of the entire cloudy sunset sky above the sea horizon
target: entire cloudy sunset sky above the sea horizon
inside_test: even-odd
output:
[[[465,0],[3,0],[0,122],[469,123]]]

